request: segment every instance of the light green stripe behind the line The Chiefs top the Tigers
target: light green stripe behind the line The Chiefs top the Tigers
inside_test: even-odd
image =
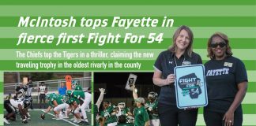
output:
[[[55,46],[55,44],[53,44],[53,46]],[[1,60],[13,60],[14,59],[17,59],[17,60],[49,60],[48,58],[45,58],[45,57],[39,57],[39,58],[32,58],[32,57],[24,57],[24,58],[21,58],[21,57],[17,57],[17,53],[16,51],[21,51],[22,53],[24,54],[27,54],[28,51],[34,51],[34,52],[38,52],[40,51],[40,53],[43,54],[43,52],[47,52],[47,53],[54,53],[55,51],[58,52],[58,53],[61,53],[62,54],[62,58],[59,58],[59,57],[51,57],[51,60],[61,60],[61,59],[67,59],[67,58],[63,58],[63,51],[67,51],[69,53],[80,53],[80,52],[84,52],[84,53],[91,53],[92,51],[93,52],[104,52],[104,53],[108,53],[108,54],[111,54],[112,52],[123,52],[123,53],[134,53],[134,52],[137,52],[137,53],[152,53],[153,54],[153,57],[144,57],[144,58],[141,58],[141,57],[137,57],[137,58],[133,58],[132,60],[155,60],[156,57],[158,57],[158,54],[160,54],[160,52],[163,51],[163,49],[137,49],[137,50],[134,50],[134,49],[126,49],[126,50],[123,50],[123,49],[20,49],[20,50],[13,50],[13,49],[2,49],[0,50],[0,58]],[[201,56],[201,59],[202,60],[209,60],[209,57],[207,57],[207,50],[206,49],[194,49],[194,52],[199,54]],[[256,49],[234,49],[232,50],[233,52],[233,56],[234,57],[238,57],[240,60],[256,60],[256,57],[253,55],[253,54],[256,54]],[[8,55],[6,55],[8,54]],[[78,60],[78,59],[81,59],[81,57],[74,57],[74,58],[71,58],[73,60]],[[90,57],[88,60],[95,60],[95,59],[104,59],[104,57]],[[116,59],[119,59],[119,60],[125,60],[125,59],[129,59],[129,58],[115,58],[115,57],[105,57],[105,59],[107,60],[116,60]],[[256,65],[256,64],[255,64]]]

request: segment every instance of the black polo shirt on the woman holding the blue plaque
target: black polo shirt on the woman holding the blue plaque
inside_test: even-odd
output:
[[[191,65],[202,64],[201,57],[194,52],[191,57],[185,52],[183,56],[178,59],[175,57],[175,53],[172,53],[170,50],[165,50],[157,57],[154,67],[156,70],[162,72],[162,79],[166,79],[169,74],[174,74],[175,66],[182,65],[183,61],[190,62]],[[165,105],[176,106],[174,83],[161,87],[158,102]]]

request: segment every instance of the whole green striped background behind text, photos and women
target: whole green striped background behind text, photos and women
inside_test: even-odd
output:
[[[106,28],[81,28],[78,24],[75,28],[18,28],[20,17],[51,17],[65,19],[74,17],[79,20],[81,17],[90,19],[108,19]],[[164,17],[174,19],[172,28],[118,28],[111,27],[113,17],[122,17],[124,19],[133,19],[142,17],[151,17],[161,21]],[[85,72],[153,72],[152,65],[157,55],[162,50],[167,50],[172,43],[172,35],[180,25],[188,25],[194,32],[194,52],[201,55],[203,62],[208,61],[206,57],[206,43],[209,36],[216,31],[224,32],[230,39],[232,51],[235,57],[239,57],[247,68],[249,77],[248,91],[243,100],[243,125],[256,125],[256,1],[191,1],[191,0],[160,0],[160,1],[119,1],[119,0],[100,0],[100,1],[34,1],[34,0],[2,0],[0,1],[0,92],[3,95],[3,72],[66,72],[66,71],[85,71]],[[52,44],[21,44],[17,46],[18,36],[27,32],[31,35],[55,35],[62,32],[70,35],[84,33],[88,35],[91,32],[100,34],[120,33],[122,36],[127,32],[134,35],[149,35],[149,33],[164,33],[164,41],[161,43],[146,43],[147,38],[142,39],[141,43],[106,43],[99,46],[96,43],[86,43],[88,36],[83,39],[84,43],[66,43],[55,46]],[[120,39],[122,42],[124,38]],[[53,53],[57,51],[69,51],[71,53],[90,53],[92,51],[103,51],[126,53],[149,53],[151,57],[17,57],[17,51],[27,54],[28,51]],[[85,68],[17,68],[18,63],[64,63],[72,65],[84,63],[91,65],[93,63],[113,64],[110,68],[85,67]],[[122,68],[115,67],[115,62],[122,63]],[[124,67],[124,64],[134,65]],[[138,65],[140,64],[140,68]],[[92,77],[93,78],[93,77]],[[3,97],[1,97],[3,98]],[[0,99],[0,109],[3,108],[3,99]],[[3,111],[0,111],[0,125],[2,122]],[[202,116],[202,109],[198,114],[197,125],[205,125]]]

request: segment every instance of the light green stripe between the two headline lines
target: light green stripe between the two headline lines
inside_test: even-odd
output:
[[[194,31],[194,38],[209,38],[216,31],[224,32],[229,38],[256,38],[256,27],[191,27]],[[121,38],[125,37],[126,33],[133,33],[134,35],[145,35],[148,37],[149,33],[164,33],[164,38],[171,38],[175,27],[173,28],[0,28],[0,38],[17,38],[21,33],[27,32],[28,35],[55,35],[55,38],[62,32],[68,35],[80,35],[83,33],[85,38],[89,33],[99,32],[100,35],[120,34]],[[244,33],[244,34],[241,34]]]

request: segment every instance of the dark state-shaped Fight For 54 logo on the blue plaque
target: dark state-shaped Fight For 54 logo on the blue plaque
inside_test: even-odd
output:
[[[190,98],[198,98],[201,95],[201,80],[195,73],[180,77],[178,85],[183,90],[183,96],[190,95]]]

